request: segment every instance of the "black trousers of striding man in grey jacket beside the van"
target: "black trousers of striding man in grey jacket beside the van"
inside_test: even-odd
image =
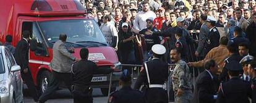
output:
[[[51,97],[51,94],[59,89],[62,81],[64,81],[69,90],[71,90],[71,73],[60,73],[55,71],[51,72],[48,87],[46,88],[45,92],[40,96],[39,101],[47,101]]]

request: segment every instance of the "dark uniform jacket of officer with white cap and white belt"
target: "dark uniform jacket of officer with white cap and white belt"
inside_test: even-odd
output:
[[[134,88],[139,89],[142,83],[148,86],[147,73],[145,65],[140,72],[138,80],[135,83]],[[150,84],[164,84],[164,81],[168,80],[168,64],[160,59],[153,58],[147,62],[148,74],[150,76]],[[168,94],[163,88],[147,88],[144,91],[146,102],[168,102]]]

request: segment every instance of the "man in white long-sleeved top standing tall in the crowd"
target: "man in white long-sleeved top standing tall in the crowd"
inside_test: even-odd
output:
[[[142,6],[143,11],[140,11],[135,17],[134,28],[136,30],[143,30],[144,28],[147,28],[146,20],[154,20],[156,18],[156,14],[150,10],[149,2],[143,1]]]

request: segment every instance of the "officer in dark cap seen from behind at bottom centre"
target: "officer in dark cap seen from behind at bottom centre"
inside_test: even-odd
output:
[[[122,76],[119,79],[119,85],[121,89],[112,93],[109,97],[110,103],[145,103],[142,92],[132,89],[132,77],[128,70],[122,72]]]

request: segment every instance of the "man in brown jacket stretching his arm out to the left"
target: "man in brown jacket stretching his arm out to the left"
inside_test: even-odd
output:
[[[226,47],[228,44],[228,38],[226,36],[223,36],[220,39],[220,46],[214,47],[211,49],[208,53],[207,56],[205,56],[205,59],[200,60],[198,62],[189,62],[190,67],[203,67],[203,64],[208,59],[213,59],[219,66],[218,74],[220,74],[221,69],[224,66],[224,59],[226,59],[229,56],[228,48]]]

